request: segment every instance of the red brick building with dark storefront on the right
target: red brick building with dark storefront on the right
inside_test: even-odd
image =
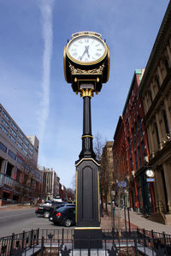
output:
[[[114,159],[119,161],[122,179],[127,180],[129,204],[133,210],[155,211],[154,182],[147,182],[144,159],[149,155],[147,132],[144,126],[144,107],[138,89],[144,69],[133,75],[127,100],[114,135]],[[125,175],[124,175],[125,173]]]

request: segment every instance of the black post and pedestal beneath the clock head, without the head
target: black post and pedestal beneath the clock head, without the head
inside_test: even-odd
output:
[[[81,86],[85,86],[84,84]],[[87,93],[86,93],[87,92]],[[91,247],[102,247],[102,230],[99,212],[99,175],[100,164],[92,148],[91,134],[91,89],[82,90],[83,97],[83,135],[82,151],[76,166],[76,228],[74,230],[74,247],[87,247],[89,238]],[[94,240],[95,239],[95,240]]]

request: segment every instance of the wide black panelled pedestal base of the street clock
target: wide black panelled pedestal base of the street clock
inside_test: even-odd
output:
[[[102,247],[98,165],[93,158],[83,158],[76,162],[75,248]]]

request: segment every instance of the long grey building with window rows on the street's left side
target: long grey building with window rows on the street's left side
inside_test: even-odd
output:
[[[30,137],[0,104],[0,199],[31,200],[40,192],[38,139]]]

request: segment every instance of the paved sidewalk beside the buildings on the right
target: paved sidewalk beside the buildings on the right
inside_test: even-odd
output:
[[[130,215],[130,226],[131,229],[146,229],[146,230],[151,230],[155,232],[165,232],[168,235],[171,235],[171,226],[170,225],[164,225],[161,223],[156,223],[153,221],[150,221],[148,218],[145,218],[140,214],[139,212],[136,211],[129,211]],[[127,229],[128,229],[128,217],[127,218]],[[117,223],[118,223],[118,209],[116,209],[116,214],[115,214],[115,228],[117,229]],[[103,217],[101,218],[101,228],[102,229],[112,229],[113,223],[112,223],[112,218],[110,215],[110,209],[109,213],[107,214],[106,212],[103,212]],[[121,210],[121,229],[125,229],[125,217],[124,217],[124,210]]]

